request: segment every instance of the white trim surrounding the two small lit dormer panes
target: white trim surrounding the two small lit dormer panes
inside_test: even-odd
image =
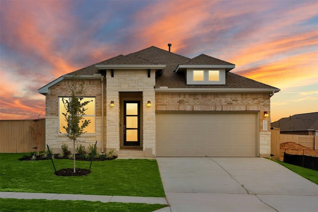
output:
[[[193,80],[193,71],[204,71],[203,81]],[[219,81],[209,81],[209,71],[219,71]],[[188,69],[186,72],[187,84],[193,85],[222,85],[225,84],[225,69]]]

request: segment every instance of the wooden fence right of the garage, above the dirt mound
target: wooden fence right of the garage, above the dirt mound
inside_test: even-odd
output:
[[[304,136],[304,135],[287,135],[280,134],[279,128],[271,128],[271,154],[272,158],[279,159],[280,144],[285,142],[295,142],[311,149],[318,149],[318,136]]]

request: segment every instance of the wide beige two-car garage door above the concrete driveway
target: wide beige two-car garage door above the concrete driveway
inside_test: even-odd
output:
[[[257,156],[257,113],[156,113],[157,156]]]

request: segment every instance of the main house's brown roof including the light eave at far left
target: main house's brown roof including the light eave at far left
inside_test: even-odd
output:
[[[135,53],[128,55],[118,55],[114,58],[93,64],[91,66],[82,68],[78,71],[73,71],[69,74],[79,74],[79,75],[93,75],[94,73],[99,73],[97,68],[102,69],[102,67],[147,67],[153,69],[161,69],[162,72],[156,77],[155,88],[168,87],[168,88],[181,88],[181,89],[193,89],[193,88],[215,88],[215,89],[233,89],[233,88],[247,88],[255,89],[255,91],[263,90],[266,92],[278,92],[279,89],[272,87],[267,84],[237,75],[235,73],[229,72],[235,68],[234,64],[222,61],[204,54],[201,54],[193,59],[159,49],[158,47],[151,46],[149,48],[140,50]],[[197,66],[209,66],[210,68],[224,68],[226,73],[226,84],[225,85],[189,85],[186,84],[186,77],[183,71],[185,68]],[[108,68],[113,69],[113,68]],[[68,76],[66,74],[64,76]],[[39,92],[45,94],[48,88],[55,83],[61,81],[64,76],[56,79],[55,81],[47,84],[46,86],[39,89]]]

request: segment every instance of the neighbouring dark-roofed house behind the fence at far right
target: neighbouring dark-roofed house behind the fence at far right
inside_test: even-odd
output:
[[[281,118],[271,127],[279,128],[280,134],[318,136],[318,112]]]

